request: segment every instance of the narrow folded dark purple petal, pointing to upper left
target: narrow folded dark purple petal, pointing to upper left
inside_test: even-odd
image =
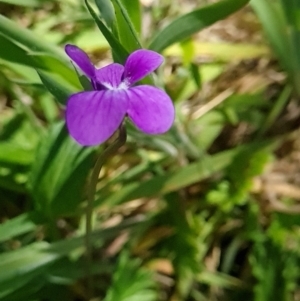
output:
[[[71,60],[89,77],[95,76],[95,67],[91,63],[88,55],[75,45],[67,44],[65,51]]]

